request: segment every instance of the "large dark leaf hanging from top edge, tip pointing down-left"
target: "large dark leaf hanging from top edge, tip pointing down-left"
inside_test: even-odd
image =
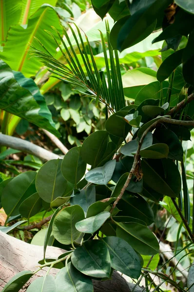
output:
[[[145,37],[155,29],[156,18],[171,3],[171,0],[133,1],[130,5],[131,17],[122,25],[118,39],[117,49],[122,51]]]

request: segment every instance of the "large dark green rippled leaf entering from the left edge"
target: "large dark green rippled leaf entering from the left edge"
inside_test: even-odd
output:
[[[10,67],[0,61],[0,109],[15,114],[59,136],[58,131],[53,127],[51,113],[34,81],[31,81],[31,79],[25,80],[23,75],[17,75],[17,79],[19,83],[21,82],[21,86]]]

